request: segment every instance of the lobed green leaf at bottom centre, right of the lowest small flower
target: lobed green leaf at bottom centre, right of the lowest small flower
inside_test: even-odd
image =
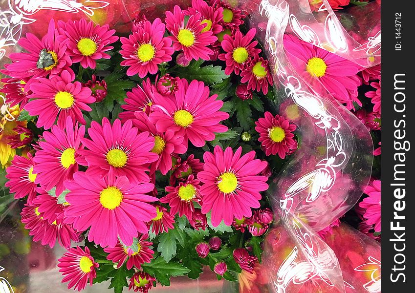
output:
[[[163,233],[163,234],[170,234]],[[163,286],[170,285],[170,277],[182,276],[190,270],[177,262],[166,262],[161,257],[155,257],[150,263],[141,265],[144,272],[153,275]]]

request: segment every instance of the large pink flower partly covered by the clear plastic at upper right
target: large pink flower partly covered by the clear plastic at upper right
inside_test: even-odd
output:
[[[315,91],[325,94],[327,89],[349,109],[354,108],[351,102],[362,105],[355,97],[361,84],[356,76],[359,65],[291,35],[284,36],[284,49],[291,65]]]

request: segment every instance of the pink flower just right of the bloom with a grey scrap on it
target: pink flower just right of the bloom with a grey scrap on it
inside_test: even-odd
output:
[[[95,69],[95,60],[109,59],[107,52],[113,49],[109,44],[118,41],[114,36],[115,29],[109,29],[109,25],[94,25],[92,21],[81,19],[80,21],[58,21],[61,36],[58,40],[68,39],[66,53],[73,63],[80,62],[84,68]]]

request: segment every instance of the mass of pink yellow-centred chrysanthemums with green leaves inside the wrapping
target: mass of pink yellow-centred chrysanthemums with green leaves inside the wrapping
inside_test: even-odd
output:
[[[110,280],[115,293],[147,293],[171,277],[196,279],[207,266],[218,279],[239,280],[240,292],[263,292],[255,290],[266,283],[264,237],[276,238],[267,232],[284,220],[269,187],[298,161],[297,148],[314,145],[303,137],[300,107],[273,90],[278,69],[259,37],[264,28],[249,28],[249,5],[142,9],[122,32],[52,19],[43,36],[27,33],[22,52],[9,55],[0,70],[5,195],[22,199],[33,241],[66,248],[57,266],[69,289]],[[299,37],[285,34],[283,44],[298,76],[316,94],[328,91],[339,111],[346,106],[380,145],[380,65]],[[355,209],[315,230],[322,242],[341,222],[380,239],[375,162]],[[303,283],[302,292],[317,288]]]

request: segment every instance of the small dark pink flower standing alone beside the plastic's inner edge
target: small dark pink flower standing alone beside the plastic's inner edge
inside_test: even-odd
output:
[[[284,159],[290,150],[295,150],[294,134],[292,133],[297,126],[290,124],[288,119],[283,116],[275,115],[270,112],[264,113],[264,118],[255,122],[255,130],[260,134],[258,141],[265,149],[265,155],[276,155]]]

